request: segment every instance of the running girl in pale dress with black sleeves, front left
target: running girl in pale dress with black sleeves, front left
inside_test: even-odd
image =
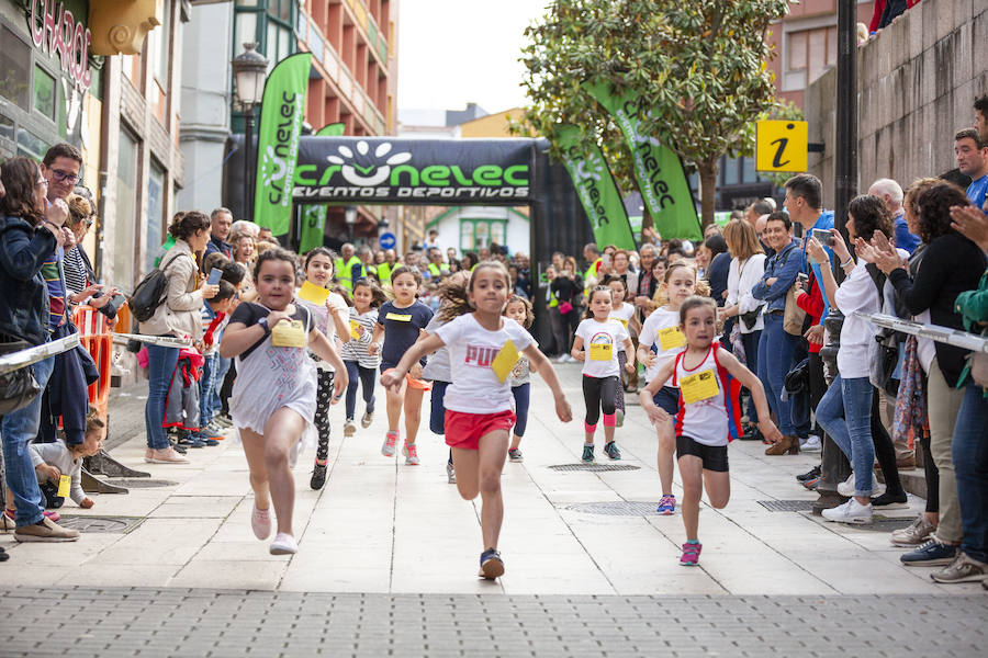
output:
[[[347,387],[347,370],[333,344],[314,327],[312,314],[292,304],[293,253],[281,248],[265,251],[254,265],[254,280],[258,303],[237,306],[223,332],[220,354],[237,359],[229,413],[250,468],[250,525],[259,540],[271,534],[273,499],[278,534],[270,552],[282,555],[299,551],[292,536],[295,483],[290,455],[316,412],[316,373],[308,350],[336,368],[336,396]]]

